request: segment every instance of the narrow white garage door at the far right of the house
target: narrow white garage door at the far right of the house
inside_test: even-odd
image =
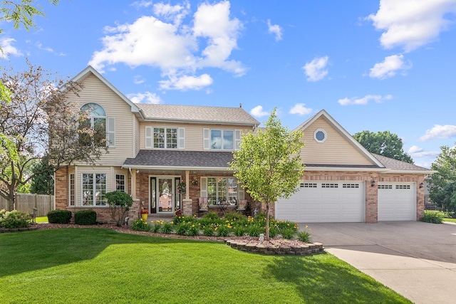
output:
[[[416,221],[415,183],[378,183],[378,221]]]

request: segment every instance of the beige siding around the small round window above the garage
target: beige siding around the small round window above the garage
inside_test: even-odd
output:
[[[326,132],[325,142],[314,139],[318,129]],[[301,159],[304,164],[373,164],[324,117],[306,127],[303,139],[306,146],[301,150]]]

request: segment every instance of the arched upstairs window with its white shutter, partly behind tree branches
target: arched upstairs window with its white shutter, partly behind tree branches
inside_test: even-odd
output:
[[[81,124],[81,127],[88,127],[94,130],[93,137],[81,136],[80,140],[85,145],[97,145],[99,147],[108,145],[115,146],[115,120],[106,117],[106,111],[98,103],[86,103],[81,107],[82,112],[88,114],[88,119]]]

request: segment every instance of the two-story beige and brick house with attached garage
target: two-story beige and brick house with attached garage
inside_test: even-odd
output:
[[[56,209],[94,209],[98,221],[110,221],[105,194],[115,190],[133,197],[131,219],[141,207],[196,215],[200,198],[209,211],[252,203],[228,169],[242,133],[259,126],[242,107],[135,104],[90,66],[73,81],[83,89],[69,101],[90,111],[92,127],[103,126],[108,153],[96,166],[56,172]],[[375,223],[423,216],[430,170],[369,153],[324,110],[296,129],[304,130],[306,169],[298,192],[271,206],[277,219]]]

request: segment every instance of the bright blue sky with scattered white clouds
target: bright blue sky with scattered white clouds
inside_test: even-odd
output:
[[[423,167],[456,142],[456,0],[37,3],[36,29],[1,23],[1,65],[90,64],[134,102],[276,107],[291,130],[325,109]]]

